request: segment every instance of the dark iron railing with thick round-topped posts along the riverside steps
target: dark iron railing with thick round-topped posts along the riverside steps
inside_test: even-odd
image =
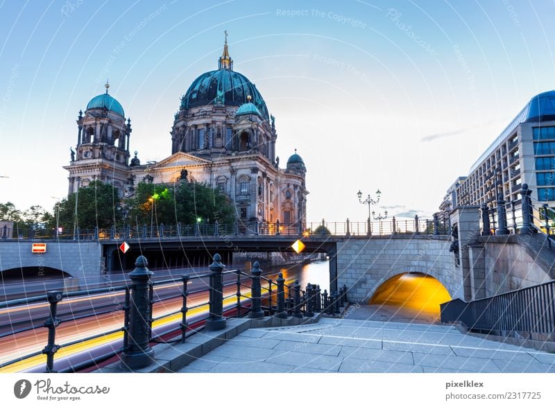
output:
[[[219,254],[214,254],[214,263],[210,266],[209,272],[182,275],[177,279],[162,279],[152,282],[153,272],[148,270],[148,262],[143,256],[137,259],[135,266],[135,270],[129,273],[131,282],[121,286],[70,293],[50,291],[47,295],[0,302],[0,309],[6,309],[8,312],[15,307],[30,304],[31,306],[44,302],[49,304],[49,316],[44,323],[32,320],[31,326],[0,334],[1,341],[2,338],[46,327],[48,341],[44,348],[8,361],[2,361],[0,371],[40,355],[46,355],[45,372],[76,372],[109,361],[116,356],[119,356],[122,365],[133,370],[153,363],[154,351],[151,344],[184,343],[187,336],[194,334],[199,329],[223,329],[226,316],[235,315],[239,318],[248,313],[250,318],[263,318],[266,315],[275,315],[277,318],[288,318],[289,316],[303,318],[314,316],[315,312],[334,314],[340,312],[340,302],[346,301],[347,295],[345,287],[339,293],[331,295],[328,295],[327,291],[321,293],[319,286],[314,284],[308,284],[306,289],[302,290],[298,280],[286,281],[282,273],[275,280],[269,279],[262,276],[262,270],[258,263],[254,264],[250,274],[241,270],[224,270]],[[233,275],[236,277],[225,278],[227,281],[224,281],[225,276],[232,277]],[[200,284],[200,288],[189,291],[189,284],[196,279],[203,280],[203,284]],[[176,285],[180,286],[177,294],[164,294],[164,291]],[[236,291],[233,291],[233,288],[236,288]],[[204,301],[203,297],[199,298],[202,293],[208,293],[207,301]],[[69,318],[63,318],[58,313],[58,305],[64,300],[93,294],[123,296],[123,302],[121,305],[118,303],[116,309],[97,310],[79,318],[75,318],[73,313],[68,314]],[[171,309],[171,300],[175,303],[176,298],[181,299],[181,306],[178,308],[174,304],[174,309]],[[191,303],[191,298],[196,301]],[[168,306],[164,304],[166,301],[170,302]],[[160,303],[159,308],[162,311],[154,312],[154,305],[158,303]],[[194,311],[194,315],[191,315],[191,311]],[[121,320],[122,326],[70,340],[67,343],[56,343],[56,331],[60,324],[76,322],[80,318],[89,318],[105,313],[113,313],[114,319]],[[180,318],[176,319],[176,315],[180,315]],[[87,358],[85,362],[74,363],[68,356],[55,363],[55,356],[60,349],[74,345],[92,345],[94,340],[110,335],[117,335],[121,344],[120,347],[116,346],[117,349],[96,354],[92,358]]]

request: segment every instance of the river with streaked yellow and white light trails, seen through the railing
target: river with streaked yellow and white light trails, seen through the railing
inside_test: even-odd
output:
[[[292,268],[271,269],[264,272],[265,277],[275,279],[278,272],[282,272],[287,284],[292,284],[295,279],[300,280],[300,284],[304,286],[308,280],[311,282],[319,282],[327,287],[327,263],[311,263]],[[248,283],[248,277],[244,277],[244,282]],[[233,295],[237,291],[235,282],[237,276],[228,274],[224,276],[224,297],[229,296],[225,300],[225,306],[232,309],[237,301]],[[248,283],[250,285],[250,283]],[[164,284],[155,286],[154,300],[160,300],[153,305],[153,318],[159,318],[173,311],[178,311],[182,305],[181,297],[175,297],[180,294],[180,282],[173,284]],[[194,279],[189,283],[188,290],[191,293],[207,288],[207,278]],[[249,295],[248,288],[242,288],[241,293]],[[67,344],[77,342],[74,345],[62,347],[56,354],[57,369],[69,365],[69,363],[78,363],[83,360],[90,360],[94,356],[105,354],[111,350],[121,347],[123,333],[121,331],[114,332],[96,338],[79,342],[83,338],[102,334],[107,331],[115,331],[121,329],[123,325],[123,292],[105,293],[97,295],[87,295],[83,297],[74,297],[62,300],[58,304],[58,317],[62,320],[60,327],[56,331],[56,343]],[[207,291],[189,295],[189,309],[198,304],[207,302]],[[12,307],[10,309],[0,310],[0,334],[10,333],[21,329],[35,326],[42,326],[44,320],[49,315],[49,305],[45,302],[28,304],[24,306]],[[193,323],[196,320],[205,318],[208,307],[200,306],[187,313],[187,320]],[[75,319],[78,318],[78,319]],[[162,331],[168,331],[170,328],[178,327],[181,314],[167,316],[153,322],[153,331],[160,334]],[[46,344],[47,331],[44,327],[36,327],[26,331],[10,334],[0,338],[0,363],[12,361],[15,358],[40,352]],[[71,359],[71,360],[70,360]],[[46,356],[38,355],[28,358],[25,361],[8,365],[0,372],[20,372],[20,371],[44,371],[44,362]]]

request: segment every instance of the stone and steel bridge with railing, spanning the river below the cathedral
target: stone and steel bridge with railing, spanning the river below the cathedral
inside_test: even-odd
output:
[[[358,303],[368,302],[384,282],[406,273],[433,277],[450,297],[463,300],[554,277],[555,258],[550,261],[547,254],[545,261],[536,261],[543,259],[529,244],[536,238],[529,236],[525,244],[518,234],[480,236],[484,229],[480,214],[479,207],[458,207],[449,223],[416,217],[379,223],[323,220],[305,230],[279,223],[144,225],[71,236],[17,236],[0,239],[0,272],[58,272],[86,286],[87,279],[131,270],[141,254],[153,268],[202,267],[216,252],[228,264],[243,252],[293,252],[292,243],[300,239],[305,253],[325,253],[329,258],[330,290],[345,287]],[[450,225],[456,225],[455,238]],[[119,250],[123,241],[130,245],[126,254]],[[33,253],[33,243],[46,243],[46,252]]]

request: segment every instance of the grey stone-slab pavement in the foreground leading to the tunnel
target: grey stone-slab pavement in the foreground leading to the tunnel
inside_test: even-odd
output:
[[[179,372],[555,373],[555,354],[451,326],[321,318],[300,327],[248,329]]]

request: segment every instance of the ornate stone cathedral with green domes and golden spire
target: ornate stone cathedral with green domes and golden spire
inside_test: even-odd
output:
[[[198,76],[181,97],[171,128],[171,155],[142,163],[130,156],[131,121],[106,92],[79,112],[71,150],[69,193],[94,180],[108,182],[122,198],[138,182],[205,182],[234,203],[242,222],[258,220],[304,229],[306,167],[295,151],[280,168],[275,118],[256,86],[233,70],[227,34],[218,69]]]

